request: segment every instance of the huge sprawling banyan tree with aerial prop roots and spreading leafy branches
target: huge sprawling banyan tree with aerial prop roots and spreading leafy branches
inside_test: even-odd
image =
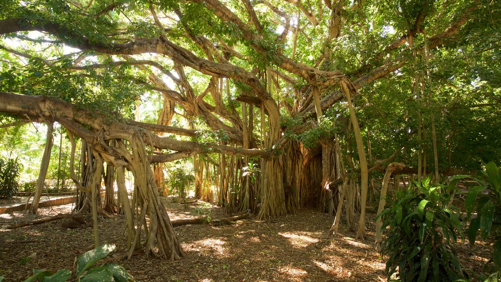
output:
[[[5,1],[0,112],[59,123],[73,158],[81,142],[80,174],[71,168],[75,212],[123,213],[129,256],[139,247],[183,256],[159,196],[161,164],[188,157],[197,198],[260,219],[314,207],[336,214],[333,228],[345,214],[364,238],[368,175],[386,164],[375,161],[359,121],[364,97],[375,81],[402,76],[404,100],[425,108],[434,54],[492,9],[481,1]],[[134,105],[155,95],[155,120],[135,120]],[[433,116],[425,126],[419,114],[413,134],[430,139],[421,131]],[[175,116],[183,122],[172,124]]]

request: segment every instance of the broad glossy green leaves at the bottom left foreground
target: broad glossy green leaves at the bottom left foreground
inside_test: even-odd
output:
[[[83,253],[77,258],[77,269],[75,275],[80,282],[128,282],[136,281],[123,266],[115,263],[105,263],[101,266],[94,266],[96,262],[108,256],[115,249],[115,245],[99,245],[95,249]],[[54,273],[50,270],[33,269],[33,276],[24,282],[65,282],[71,277],[71,271],[61,269]],[[0,281],[2,279],[0,278]]]

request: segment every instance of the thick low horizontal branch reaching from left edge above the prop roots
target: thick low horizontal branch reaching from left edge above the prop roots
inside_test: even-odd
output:
[[[257,149],[241,149],[216,143],[197,143],[170,137],[160,137],[152,131],[138,126],[141,123],[131,125],[119,121],[110,122],[107,118],[104,118],[104,115],[77,109],[75,105],[52,96],[30,96],[0,92],[0,112],[18,115],[23,120],[37,122],[57,121],[72,134],[87,140],[95,150],[109,154],[110,156],[116,156],[118,153],[109,148],[104,140],[124,139],[130,142],[132,136],[139,133],[142,135],[145,145],[179,152],[177,155],[173,155],[176,158],[181,154],[190,154],[181,152],[220,153],[242,157],[271,157],[270,152]],[[170,129],[172,131],[175,129],[184,134],[193,133],[193,131],[179,128]],[[161,156],[155,156],[155,158],[173,158],[173,156]],[[154,158],[152,157],[152,159]]]

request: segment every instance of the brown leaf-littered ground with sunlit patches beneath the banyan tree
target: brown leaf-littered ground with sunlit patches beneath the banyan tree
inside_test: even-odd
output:
[[[191,203],[185,208],[162,198],[170,218],[212,219],[228,217],[224,208]],[[32,269],[72,269],[74,259],[92,248],[91,220],[75,226],[71,219],[12,230],[6,225],[29,222],[69,213],[72,205],[42,208],[37,216],[23,213],[0,215],[0,276],[23,281]],[[233,215],[238,215],[234,213]],[[144,255],[125,260],[123,242],[102,262],[123,265],[136,279],[145,281],[386,281],[384,261],[374,251],[375,215],[368,214],[367,237],[356,240],[344,222],[340,234],[326,237],[333,217],[304,209],[296,214],[258,221],[254,217],[232,225],[184,225],[175,230],[186,257],[180,261],[146,259]],[[125,220],[99,218],[100,239],[119,244]],[[78,227],[78,228],[75,228]],[[122,240],[124,241],[124,240]],[[478,242],[470,247],[458,241],[456,249],[468,273],[482,273],[492,247]]]

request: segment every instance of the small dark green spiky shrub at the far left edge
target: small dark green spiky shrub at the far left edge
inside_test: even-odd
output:
[[[0,158],[0,198],[10,199],[19,190],[21,164],[16,159]]]

